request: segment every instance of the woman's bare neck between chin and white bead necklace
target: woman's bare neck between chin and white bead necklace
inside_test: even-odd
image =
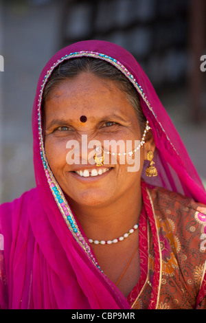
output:
[[[80,205],[70,200],[69,204],[88,238],[111,240],[128,232],[139,222],[141,186],[135,192],[127,192],[105,205]]]

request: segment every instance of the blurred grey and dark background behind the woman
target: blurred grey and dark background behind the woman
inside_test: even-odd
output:
[[[41,70],[84,39],[117,43],[137,58],[206,186],[205,0],[0,0],[0,203],[35,186],[32,104]]]

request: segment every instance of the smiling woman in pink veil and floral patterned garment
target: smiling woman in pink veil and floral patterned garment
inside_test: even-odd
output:
[[[206,192],[135,58],[61,49],[32,126],[36,187],[0,208],[1,309],[206,309]]]

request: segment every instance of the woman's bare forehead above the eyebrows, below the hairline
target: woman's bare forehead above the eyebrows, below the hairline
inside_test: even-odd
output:
[[[77,78],[65,80],[51,91],[45,102],[45,113],[78,114],[78,119],[86,112],[87,119],[89,115],[92,117],[96,114],[116,114],[119,118],[121,115],[128,116],[134,109],[126,93],[111,82],[91,74],[80,74]]]

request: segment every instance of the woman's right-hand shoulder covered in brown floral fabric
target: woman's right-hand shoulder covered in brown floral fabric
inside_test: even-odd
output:
[[[206,205],[164,188],[149,189],[155,219],[161,230],[171,232],[181,251],[198,257],[206,254]]]

